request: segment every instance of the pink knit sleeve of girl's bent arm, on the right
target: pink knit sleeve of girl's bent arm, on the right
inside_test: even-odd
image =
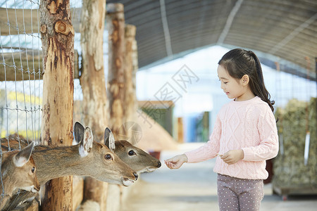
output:
[[[263,161],[278,155],[278,129],[273,112],[268,107],[259,115],[259,146],[242,148],[245,161]]]

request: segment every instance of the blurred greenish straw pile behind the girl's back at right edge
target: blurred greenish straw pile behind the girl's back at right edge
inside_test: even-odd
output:
[[[308,108],[307,108],[308,106]],[[278,133],[282,148],[274,160],[273,186],[312,186],[317,191],[317,98],[309,103],[295,99],[285,109],[278,108]],[[310,132],[309,158],[304,165],[306,130]],[[281,139],[282,136],[282,139]]]

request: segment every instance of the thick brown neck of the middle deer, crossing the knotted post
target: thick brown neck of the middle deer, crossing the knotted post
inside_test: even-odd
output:
[[[44,184],[50,179],[82,174],[82,158],[79,146],[49,147],[36,146],[33,159],[37,165],[37,179]]]

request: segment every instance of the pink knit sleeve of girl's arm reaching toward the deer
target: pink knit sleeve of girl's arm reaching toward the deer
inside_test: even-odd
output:
[[[186,152],[187,162],[201,162],[216,157],[216,153],[219,151],[219,142],[221,135],[221,122],[219,117],[216,118],[213,132],[209,137],[209,141],[193,151]]]

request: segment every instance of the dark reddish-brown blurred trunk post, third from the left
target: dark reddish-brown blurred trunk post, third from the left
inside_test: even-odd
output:
[[[109,127],[115,139],[124,135],[125,121],[125,20],[123,4],[107,4]],[[109,184],[106,210],[120,209],[120,186]]]

